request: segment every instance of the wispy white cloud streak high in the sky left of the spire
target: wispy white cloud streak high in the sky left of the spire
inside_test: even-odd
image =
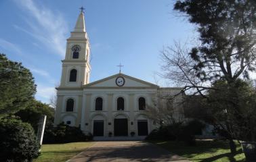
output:
[[[65,41],[68,27],[60,13],[54,13],[45,6],[35,3],[33,0],[14,0],[28,16],[24,21],[30,26],[29,29],[15,25],[19,30],[30,34],[45,47],[56,51],[62,57],[65,55]]]

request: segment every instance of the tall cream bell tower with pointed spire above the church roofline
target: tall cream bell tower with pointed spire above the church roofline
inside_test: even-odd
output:
[[[85,29],[85,16],[81,12],[77,18],[74,30],[66,43],[66,56],[62,60],[62,77],[60,87],[81,87],[89,83],[91,72],[90,44]]]

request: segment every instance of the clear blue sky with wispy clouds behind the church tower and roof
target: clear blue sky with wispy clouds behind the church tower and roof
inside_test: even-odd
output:
[[[1,0],[0,53],[33,72],[36,98],[49,103],[58,86],[66,38],[85,7],[91,43],[90,82],[122,72],[160,86],[175,86],[161,72],[160,51],[196,32],[172,11],[172,0]]]

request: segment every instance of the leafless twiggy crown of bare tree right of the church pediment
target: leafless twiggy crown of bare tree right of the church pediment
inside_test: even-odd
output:
[[[211,82],[202,82],[198,78],[198,72],[194,69],[197,63],[190,57],[186,45],[182,47],[180,43],[175,42],[174,47],[166,47],[161,52],[161,59],[163,72],[160,75],[163,78],[171,80],[177,86],[184,87],[182,92],[186,91],[206,97],[205,90],[211,88]]]

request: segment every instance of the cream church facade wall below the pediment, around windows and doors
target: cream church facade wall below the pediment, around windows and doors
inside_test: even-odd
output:
[[[156,128],[153,121],[148,119],[145,111],[139,110],[138,99],[144,97],[146,105],[154,104],[158,94],[179,92],[178,89],[167,88],[84,88],[83,90],[58,90],[58,107],[56,109],[55,125],[62,121],[71,121],[70,126],[81,127],[85,133],[93,133],[93,120],[104,120],[104,136],[108,132],[114,134],[114,119],[128,119],[128,135],[137,135],[137,120],[148,120],[148,133]],[[95,99],[102,97],[102,111],[95,111]],[[125,99],[125,110],[117,111],[116,100]],[[66,112],[66,100],[74,99],[74,112]],[[179,97],[181,99],[181,97]],[[177,107],[177,109],[180,109]],[[110,125],[109,125],[110,124]]]

